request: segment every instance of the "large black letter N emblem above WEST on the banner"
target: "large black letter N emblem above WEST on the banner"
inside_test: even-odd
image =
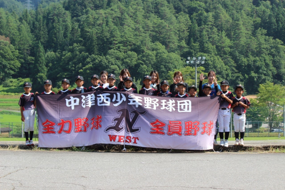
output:
[[[121,108],[116,111],[119,114],[119,117],[116,117],[113,119],[112,123],[115,123],[114,125],[108,126],[105,129],[105,132],[108,131],[115,131],[117,133],[121,132],[124,128],[126,129],[127,133],[137,133],[140,131],[140,127],[134,128],[137,119],[139,116],[143,116],[147,113],[146,110],[144,111],[138,111],[138,110],[132,110],[129,111],[126,108]]]

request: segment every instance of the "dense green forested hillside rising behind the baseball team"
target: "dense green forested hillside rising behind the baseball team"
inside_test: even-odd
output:
[[[31,78],[59,87],[128,68],[136,80],[156,69],[171,81],[188,56],[205,56],[205,72],[257,92],[285,81],[285,2],[248,0],[0,0],[0,84]],[[201,68],[203,70],[203,68]],[[21,83],[24,81],[21,81]],[[57,82],[57,83],[56,83]],[[88,85],[87,85],[88,86]]]

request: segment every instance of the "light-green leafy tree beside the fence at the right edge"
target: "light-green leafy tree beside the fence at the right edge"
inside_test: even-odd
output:
[[[281,105],[285,103],[285,90],[284,86],[280,84],[273,84],[272,82],[266,82],[260,84],[258,88],[257,103],[256,106],[266,109],[266,116],[269,122],[270,130],[272,128],[273,121],[276,121],[278,116],[282,114],[283,108]]]

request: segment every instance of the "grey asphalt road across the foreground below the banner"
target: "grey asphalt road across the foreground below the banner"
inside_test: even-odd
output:
[[[0,189],[285,189],[284,153],[0,150]]]

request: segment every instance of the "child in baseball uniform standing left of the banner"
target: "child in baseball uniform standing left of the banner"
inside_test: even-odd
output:
[[[32,84],[30,82],[24,83],[25,93],[22,94],[19,105],[21,107],[21,120],[25,122],[25,137],[26,146],[34,146],[34,123],[35,123],[35,94],[31,93]],[[30,131],[30,140],[29,140]]]

